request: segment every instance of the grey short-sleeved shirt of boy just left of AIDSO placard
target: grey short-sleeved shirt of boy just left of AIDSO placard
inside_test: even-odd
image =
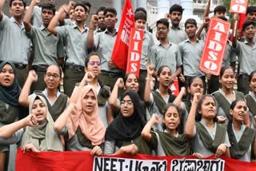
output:
[[[199,70],[199,63],[202,57],[202,51],[205,43],[202,40],[197,40],[195,44],[190,42],[190,39],[178,44],[179,51],[182,57],[183,73],[185,76],[202,77],[205,74]]]

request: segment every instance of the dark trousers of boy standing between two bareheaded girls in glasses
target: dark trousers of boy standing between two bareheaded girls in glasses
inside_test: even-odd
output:
[[[64,71],[63,87],[64,87],[64,93],[67,96],[70,97],[72,95],[75,84],[78,82],[81,82],[84,75],[85,75],[84,70],[66,69]]]

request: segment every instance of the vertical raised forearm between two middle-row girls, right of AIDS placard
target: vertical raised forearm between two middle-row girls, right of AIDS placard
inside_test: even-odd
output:
[[[150,103],[150,80],[152,79],[152,75],[154,74],[154,66],[147,66],[147,76],[146,76],[146,85],[144,90],[144,101]]]

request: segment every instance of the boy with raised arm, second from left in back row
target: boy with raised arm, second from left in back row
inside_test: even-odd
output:
[[[32,26],[30,19],[36,4],[38,4],[37,0],[31,1],[30,7],[24,17],[26,34],[33,42],[34,48],[32,69],[38,74],[38,82],[34,82],[31,86],[32,92],[34,92],[34,90],[45,89],[44,75],[46,74],[46,68],[48,66],[51,64],[62,65],[64,62],[64,46],[62,39],[57,38],[47,30],[51,19],[54,17],[55,6],[50,2],[43,3],[41,6],[42,26]]]

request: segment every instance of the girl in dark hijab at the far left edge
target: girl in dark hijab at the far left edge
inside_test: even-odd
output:
[[[0,64],[0,127],[18,120],[20,91],[14,64],[2,62]],[[10,145],[0,145],[0,170],[4,169],[9,148]]]

